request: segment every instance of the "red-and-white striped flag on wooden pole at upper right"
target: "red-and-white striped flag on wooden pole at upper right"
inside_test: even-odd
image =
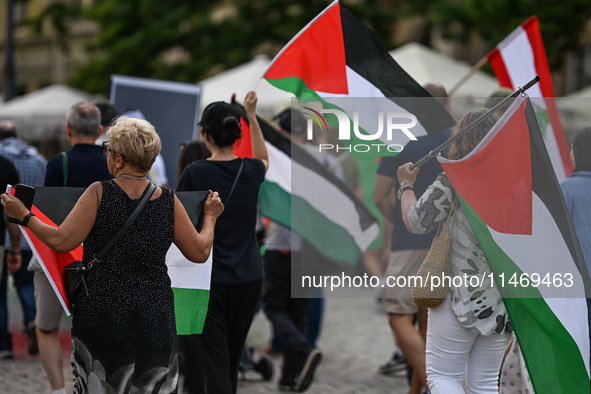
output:
[[[509,34],[488,54],[488,60],[502,87],[516,90],[536,75],[540,82],[527,92],[542,130],[546,149],[559,181],[573,172],[570,149],[554,100],[552,75],[540,33],[538,18],[532,16]]]

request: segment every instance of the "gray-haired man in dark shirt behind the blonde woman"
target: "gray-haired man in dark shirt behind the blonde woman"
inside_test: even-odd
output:
[[[92,103],[74,104],[66,117],[70,151],[62,152],[47,163],[45,186],[87,188],[92,183],[112,179],[107,158],[95,140],[102,133],[101,114]],[[59,325],[62,306],[41,269],[35,271],[37,338],[39,353],[53,394],[65,394]]]

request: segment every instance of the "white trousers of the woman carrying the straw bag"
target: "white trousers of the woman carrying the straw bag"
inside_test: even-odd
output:
[[[432,394],[464,394],[466,364],[468,394],[498,394],[501,362],[510,334],[477,334],[460,324],[449,296],[429,309],[427,324],[427,384]]]

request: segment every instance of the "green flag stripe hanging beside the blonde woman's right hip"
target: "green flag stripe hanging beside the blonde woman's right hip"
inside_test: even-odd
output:
[[[173,287],[172,292],[177,335],[201,334],[207,316],[209,290]]]

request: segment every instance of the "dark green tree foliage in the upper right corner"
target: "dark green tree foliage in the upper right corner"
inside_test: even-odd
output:
[[[589,0],[396,0],[394,7],[408,15],[423,15],[426,32],[437,27],[444,37],[460,41],[478,34],[491,48],[536,15],[554,70],[577,47],[591,18]]]

